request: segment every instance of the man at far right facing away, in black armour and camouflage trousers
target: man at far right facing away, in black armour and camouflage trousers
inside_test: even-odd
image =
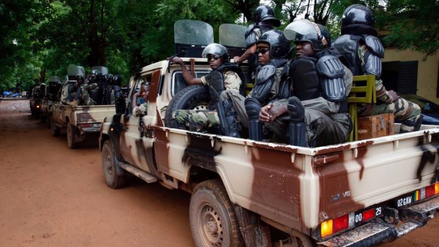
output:
[[[342,62],[354,75],[375,75],[379,104],[364,104],[360,116],[393,113],[402,121],[400,133],[419,130],[422,123],[421,108],[399,98],[395,91],[387,91],[381,77],[381,59],[384,47],[376,37],[374,13],[367,7],[354,4],[346,8],[342,18],[342,36],[333,46],[342,54]]]

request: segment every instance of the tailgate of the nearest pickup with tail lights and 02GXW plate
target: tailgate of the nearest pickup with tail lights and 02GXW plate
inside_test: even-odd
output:
[[[407,211],[410,211],[408,208],[419,208],[421,204],[433,208],[428,214],[430,211],[435,212],[438,201],[432,198],[439,193],[439,186],[432,185],[438,179],[439,162],[439,135],[435,132],[377,138],[357,143],[360,145],[353,144],[354,148],[348,150],[344,148],[338,152],[315,156],[313,167],[319,179],[317,184],[320,198],[314,201],[318,204],[318,211],[309,215],[309,220],[316,220],[319,224],[314,236],[324,240],[347,229],[358,230],[360,226],[368,230],[371,227],[367,226],[377,226],[377,229],[382,228],[379,231],[387,231],[389,227],[385,224],[371,221],[389,215],[401,219],[401,215],[407,216]],[[433,202],[428,203],[428,200]],[[331,220],[331,224],[338,224],[338,220],[342,219],[345,222],[340,223],[335,232],[331,231],[327,236],[322,236],[323,233],[320,235],[321,228],[326,227],[320,225],[322,222],[326,224]],[[390,223],[392,225],[396,222]],[[412,222],[408,227],[415,229],[424,224]],[[396,236],[403,235],[392,227],[389,231],[397,233]],[[357,238],[361,235],[353,232],[350,234]]]

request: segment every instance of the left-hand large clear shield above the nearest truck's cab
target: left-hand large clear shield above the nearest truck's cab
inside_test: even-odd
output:
[[[174,42],[189,45],[213,43],[212,26],[203,21],[180,20],[174,24]]]

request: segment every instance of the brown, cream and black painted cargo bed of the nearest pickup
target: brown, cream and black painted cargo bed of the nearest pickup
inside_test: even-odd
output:
[[[317,148],[153,128],[159,172],[184,183],[191,166],[217,172],[232,202],[317,240],[325,220],[414,205],[437,179],[438,126]]]

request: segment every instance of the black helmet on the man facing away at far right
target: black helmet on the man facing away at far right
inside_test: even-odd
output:
[[[342,35],[368,34],[377,36],[374,30],[374,12],[363,5],[353,4],[345,9],[342,17]]]

